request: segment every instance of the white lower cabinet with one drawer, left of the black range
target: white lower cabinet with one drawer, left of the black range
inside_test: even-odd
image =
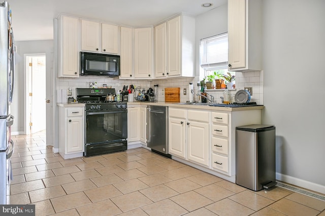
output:
[[[64,159],[84,152],[84,107],[59,107],[59,154]]]

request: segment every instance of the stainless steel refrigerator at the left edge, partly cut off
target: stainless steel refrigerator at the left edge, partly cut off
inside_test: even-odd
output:
[[[11,9],[8,2],[0,2],[0,204],[6,203],[11,179],[10,157],[14,151],[10,113],[15,82],[14,36]]]

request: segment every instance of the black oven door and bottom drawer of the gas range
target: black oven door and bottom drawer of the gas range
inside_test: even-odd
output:
[[[86,111],[85,156],[127,148],[127,110]]]

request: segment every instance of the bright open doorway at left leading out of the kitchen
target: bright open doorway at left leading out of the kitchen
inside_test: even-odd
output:
[[[35,134],[46,130],[46,56],[27,54],[26,63],[26,119],[25,133]]]

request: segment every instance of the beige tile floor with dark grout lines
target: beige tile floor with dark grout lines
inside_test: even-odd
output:
[[[11,204],[36,215],[322,215],[325,202],[280,187],[253,192],[144,148],[63,160],[44,132],[14,136]]]

